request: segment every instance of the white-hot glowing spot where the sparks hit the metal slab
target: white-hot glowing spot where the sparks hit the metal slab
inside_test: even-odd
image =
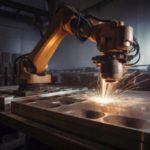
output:
[[[89,100],[92,100],[96,103],[100,103],[100,104],[109,104],[113,102],[113,99],[110,97],[101,97],[101,96],[91,96],[89,97]]]

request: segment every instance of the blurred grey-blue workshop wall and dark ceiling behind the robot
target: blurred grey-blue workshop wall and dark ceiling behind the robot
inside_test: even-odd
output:
[[[1,0],[0,1],[0,85],[15,84],[13,62],[19,55],[31,52],[43,37],[61,3],[101,19],[123,20],[134,28],[141,48],[141,60],[129,71],[150,70],[150,9],[146,0]],[[67,36],[49,62],[54,74],[65,71],[97,71],[91,58],[98,54],[95,43],[80,42]],[[88,70],[88,71],[87,71]],[[60,77],[57,76],[57,80]],[[62,79],[62,78],[61,78]]]

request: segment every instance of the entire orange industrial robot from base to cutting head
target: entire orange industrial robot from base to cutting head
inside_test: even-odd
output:
[[[68,34],[75,35],[80,41],[88,39],[97,43],[100,56],[92,60],[100,67],[100,75],[106,82],[119,81],[126,66],[132,65],[129,62],[136,56],[140,58],[139,45],[133,37],[132,27],[124,25],[122,21],[84,15],[63,5],[56,11],[48,31],[34,50],[15,61],[20,89],[51,83],[51,75],[46,73],[48,62]],[[132,52],[134,54],[130,54]]]

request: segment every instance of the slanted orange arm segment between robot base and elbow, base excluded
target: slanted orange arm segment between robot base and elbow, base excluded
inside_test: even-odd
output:
[[[60,42],[68,33],[71,33],[70,21],[74,17],[72,12],[65,7],[60,9],[54,16],[46,35],[31,53],[31,59],[37,74],[45,71]]]

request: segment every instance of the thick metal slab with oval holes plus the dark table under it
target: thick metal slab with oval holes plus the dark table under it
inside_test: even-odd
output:
[[[150,92],[131,91],[107,106],[75,99],[17,100],[0,122],[56,150],[150,149]]]

